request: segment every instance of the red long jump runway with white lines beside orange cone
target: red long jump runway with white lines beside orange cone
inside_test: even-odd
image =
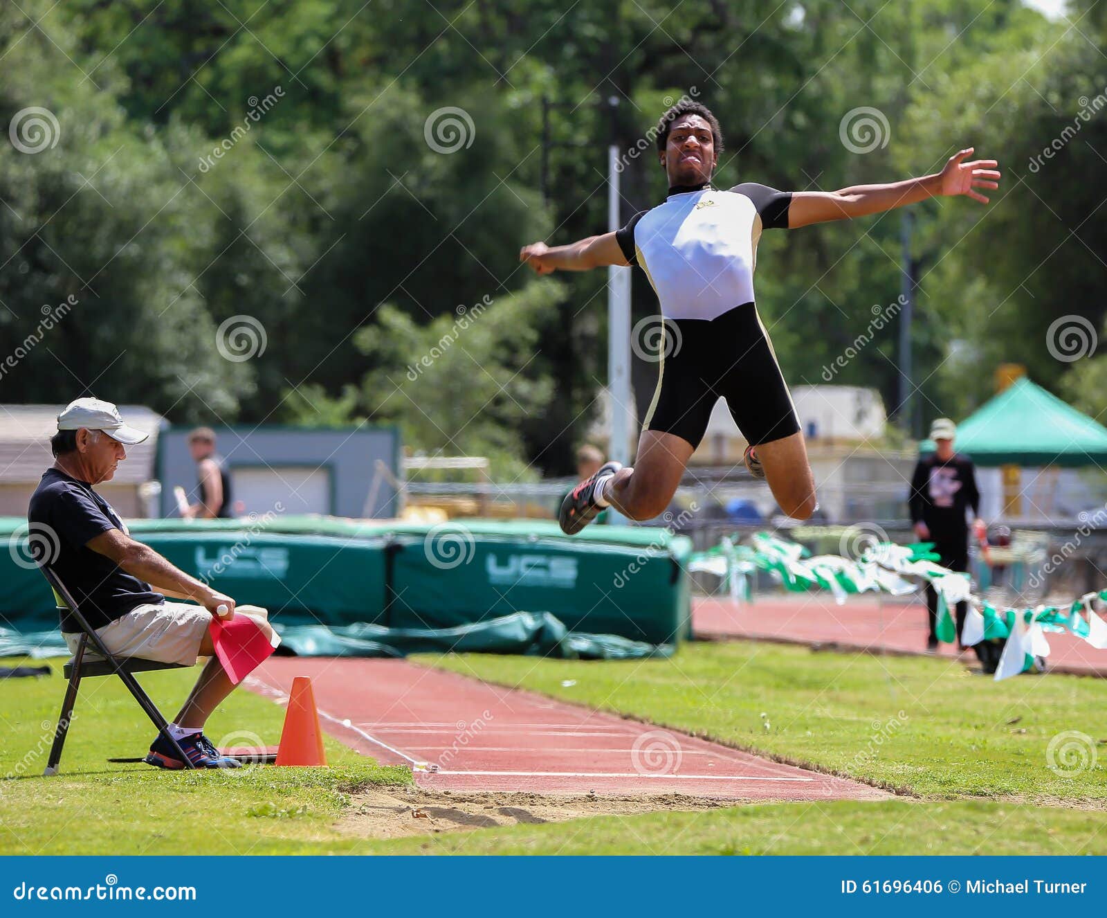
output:
[[[311,678],[323,729],[426,790],[876,800],[865,784],[405,660],[271,657],[244,684]]]

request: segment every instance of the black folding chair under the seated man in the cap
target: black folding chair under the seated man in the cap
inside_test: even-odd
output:
[[[180,747],[180,744],[169,733],[168,723],[165,718],[162,716],[162,712],[157,710],[157,705],[149,700],[149,695],[146,694],[143,687],[138,684],[138,680],[134,677],[134,673],[136,672],[149,672],[159,669],[180,669],[180,664],[161,663],[156,660],[144,660],[141,657],[115,657],[110,653],[107,648],[104,646],[103,640],[101,640],[100,635],[91,628],[87,619],[81,612],[81,609],[77,608],[77,604],[76,600],[73,599],[73,595],[65,588],[65,585],[58,579],[58,575],[54,574],[54,571],[49,567],[41,567],[40,570],[42,570],[43,576],[53,588],[54,597],[58,599],[59,606],[68,608],[72,613],[73,619],[81,626],[81,641],[77,643],[76,652],[73,654],[73,659],[70,660],[64,667],[65,675],[69,678],[69,685],[65,689],[65,700],[62,702],[62,713],[58,720],[58,729],[54,731],[54,744],[50,750],[50,761],[46,763],[46,770],[42,774],[46,777],[58,774],[58,765],[62,760],[62,747],[65,745],[65,734],[69,733],[69,725],[73,720],[73,705],[76,703],[76,690],[81,685],[81,680],[95,675],[111,675],[113,673],[123,680],[123,684],[126,685],[127,691],[134,695],[135,701],[138,702],[138,706],[146,712],[146,716],[151,719],[154,726],[156,726],[161,733],[166,735],[169,743],[176,750],[177,755],[180,757],[180,761],[185,763],[185,767],[192,769],[193,763],[189,761],[188,756],[185,755],[185,751]],[[104,658],[103,660],[85,661],[85,648],[90,641],[95,648],[96,653]]]

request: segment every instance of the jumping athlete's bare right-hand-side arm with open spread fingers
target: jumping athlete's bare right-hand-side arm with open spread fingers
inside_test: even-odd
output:
[[[888,185],[855,185],[840,192],[794,192],[788,207],[788,228],[880,214],[942,195],[968,195],[973,200],[987,204],[989,199],[976,189],[1000,187],[999,163],[995,159],[965,163],[965,157],[972,152],[973,147],[969,147],[954,153],[941,172],[922,178],[908,178]]]

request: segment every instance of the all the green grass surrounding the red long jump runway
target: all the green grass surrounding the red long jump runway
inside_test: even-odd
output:
[[[420,661],[913,796],[358,839],[337,825],[351,796],[369,784],[406,784],[406,770],[379,767],[330,740],[333,767],[325,770],[111,765],[107,756],[141,754],[152,739],[117,680],[85,683],[62,774],[39,777],[63,691],[55,671],[0,683],[0,774],[9,775],[0,781],[0,846],[10,854],[1107,854],[1101,680],[1054,674],[994,683],[944,660],[739,642],[690,644],[671,660]],[[173,710],[193,677],[142,679]],[[575,684],[562,687],[568,680]],[[218,741],[249,730],[275,745],[282,719],[279,705],[240,691],[208,734]],[[1086,749],[1097,760],[1070,776],[1046,760],[1051,740],[1066,730],[1090,735]]]

